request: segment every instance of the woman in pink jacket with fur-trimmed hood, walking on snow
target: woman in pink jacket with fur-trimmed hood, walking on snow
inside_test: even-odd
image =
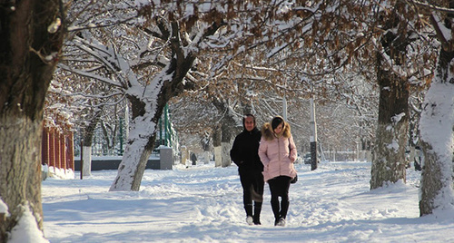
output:
[[[290,125],[281,116],[276,116],[271,123],[263,125],[259,156],[263,163],[263,180],[270,185],[274,225],[285,226],[289,210],[289,188],[297,173],[293,166],[297,151]]]

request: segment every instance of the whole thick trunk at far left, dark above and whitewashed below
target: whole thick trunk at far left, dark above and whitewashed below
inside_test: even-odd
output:
[[[0,242],[6,242],[27,211],[43,230],[43,107],[64,39],[61,28],[48,27],[64,15],[56,0],[0,5],[0,203],[7,206],[0,211]]]

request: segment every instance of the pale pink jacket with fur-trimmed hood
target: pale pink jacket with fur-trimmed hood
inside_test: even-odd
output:
[[[280,138],[271,129],[270,123],[262,127],[262,140],[259,146],[259,156],[263,163],[263,179],[268,181],[278,176],[294,178],[297,171],[293,166],[297,151],[290,132],[290,125],[285,122]]]

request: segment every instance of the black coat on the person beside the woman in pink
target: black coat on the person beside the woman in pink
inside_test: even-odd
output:
[[[262,132],[257,128],[243,130],[233,141],[230,157],[238,165],[240,174],[262,173],[263,164],[259,157],[259,145]]]

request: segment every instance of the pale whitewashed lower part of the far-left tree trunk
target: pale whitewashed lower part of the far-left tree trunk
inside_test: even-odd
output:
[[[38,228],[43,229],[42,122],[3,112],[0,124],[0,138],[8,138],[0,140],[0,195],[10,214],[9,217],[0,217],[0,242],[5,242],[5,232],[15,227],[25,210],[31,210]]]

